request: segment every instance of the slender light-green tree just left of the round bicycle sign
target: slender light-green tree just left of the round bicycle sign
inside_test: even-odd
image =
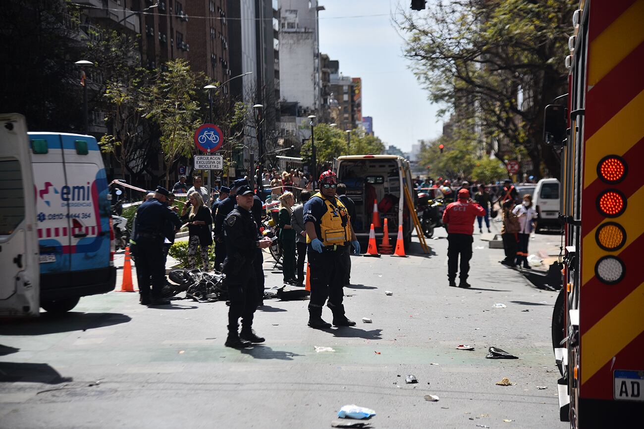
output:
[[[192,73],[186,60],[166,62],[165,71],[156,71],[149,95],[140,108],[145,117],[159,127],[160,146],[166,163],[166,183],[169,187],[170,170],[182,156],[194,151],[194,130],[200,125],[202,108],[198,91],[204,78]]]

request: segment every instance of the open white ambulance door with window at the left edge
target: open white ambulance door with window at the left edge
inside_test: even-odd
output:
[[[34,199],[24,116],[0,114],[0,316],[39,314]]]

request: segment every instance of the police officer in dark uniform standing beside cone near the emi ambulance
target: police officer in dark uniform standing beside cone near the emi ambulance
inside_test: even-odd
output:
[[[134,227],[135,258],[137,264],[138,290],[140,302],[144,306],[165,306],[170,304],[161,296],[166,285],[166,265],[164,263],[163,243],[166,221],[178,230],[181,221],[175,212],[166,205],[169,192],[157,187],[155,196],[147,199],[137,210]],[[150,293],[150,286],[152,291]]]

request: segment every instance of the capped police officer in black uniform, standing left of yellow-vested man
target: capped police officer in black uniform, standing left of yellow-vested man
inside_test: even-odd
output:
[[[228,337],[226,347],[243,348],[251,343],[264,342],[252,330],[252,318],[257,309],[256,272],[253,268],[257,250],[270,246],[269,238],[262,239],[252,218],[251,187],[242,185],[237,190],[237,205],[226,217],[223,232],[227,255],[223,261],[224,286],[231,305],[228,309]],[[238,320],[242,318],[242,332]]]

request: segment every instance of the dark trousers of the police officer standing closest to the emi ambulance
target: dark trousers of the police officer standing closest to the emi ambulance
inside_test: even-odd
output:
[[[135,266],[137,268],[138,290],[141,297],[161,297],[161,291],[166,286],[166,257],[164,256],[163,241],[138,238],[135,246]]]

